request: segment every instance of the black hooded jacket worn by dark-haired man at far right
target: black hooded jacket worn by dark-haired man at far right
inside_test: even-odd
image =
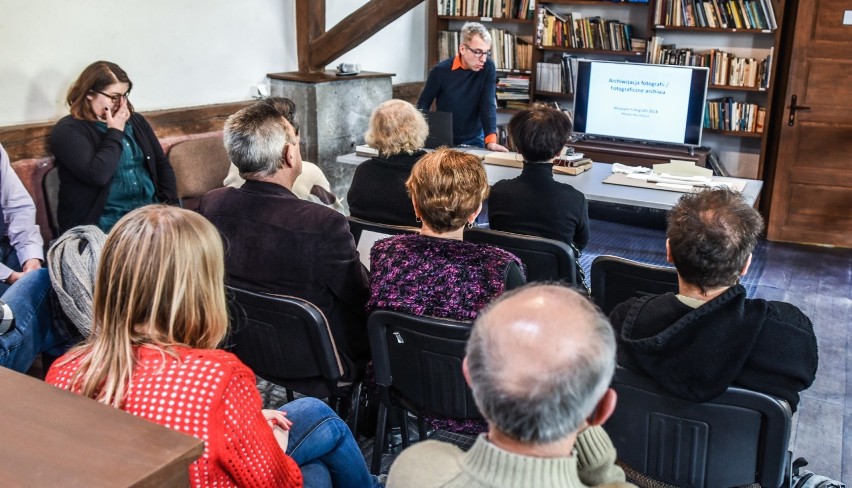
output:
[[[795,412],[816,376],[810,319],[789,303],[746,299],[741,285],[695,309],[673,293],[631,298],[610,321],[618,363],[685,400],[711,400],[733,384],[783,398]]]

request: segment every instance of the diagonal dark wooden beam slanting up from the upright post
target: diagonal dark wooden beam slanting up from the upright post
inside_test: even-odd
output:
[[[309,2],[309,0],[297,1],[300,1],[299,5]],[[328,63],[351,51],[422,2],[423,0],[370,0],[311,42],[309,69],[324,70]],[[302,71],[301,53],[299,70]]]

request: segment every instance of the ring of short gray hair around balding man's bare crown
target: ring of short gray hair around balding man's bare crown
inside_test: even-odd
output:
[[[542,286],[534,283],[502,295],[479,314],[467,344],[467,365],[473,397],[479,410],[504,434],[524,443],[543,444],[577,431],[594,411],[615,372],[615,334],[607,318],[575,290],[563,288],[577,317],[588,320],[589,332],[578,337],[586,344],[576,348],[558,369],[542,371],[526,383],[523,392],[505,387],[506,365],[487,322],[499,321],[492,310],[519,293]],[[574,295],[571,297],[570,295]]]

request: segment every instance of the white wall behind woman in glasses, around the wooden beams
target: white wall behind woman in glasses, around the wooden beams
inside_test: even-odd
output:
[[[365,2],[327,0],[327,28]],[[294,0],[0,0],[0,12],[0,126],[65,115],[68,86],[98,59],[127,71],[142,111],[245,100],[266,73],[298,69]],[[421,5],[341,60],[422,80],[424,32]]]

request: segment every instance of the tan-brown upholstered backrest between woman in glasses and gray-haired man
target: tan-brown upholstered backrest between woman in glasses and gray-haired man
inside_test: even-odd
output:
[[[218,133],[174,144],[169,148],[169,162],[175,172],[178,198],[190,201],[221,188],[231,166]]]

